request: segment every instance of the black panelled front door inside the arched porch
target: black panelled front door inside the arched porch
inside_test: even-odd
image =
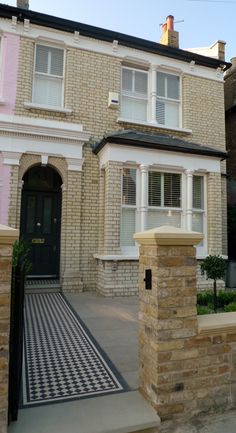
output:
[[[44,171],[44,177],[45,174]],[[56,278],[59,275],[60,209],[59,190],[36,190],[35,183],[31,188],[26,183],[22,191],[21,237],[31,245],[29,277]]]

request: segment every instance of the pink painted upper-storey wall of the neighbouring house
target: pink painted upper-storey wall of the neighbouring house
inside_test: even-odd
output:
[[[4,33],[1,41],[0,113],[14,114],[20,38]]]

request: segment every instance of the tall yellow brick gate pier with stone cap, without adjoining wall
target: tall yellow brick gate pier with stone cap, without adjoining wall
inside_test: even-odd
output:
[[[200,353],[196,249],[202,234],[170,226],[136,233],[139,259],[139,386],[162,419],[189,416]]]

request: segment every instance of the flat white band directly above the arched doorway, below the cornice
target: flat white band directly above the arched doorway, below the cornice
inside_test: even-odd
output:
[[[0,135],[0,151],[30,153],[36,155],[46,154],[48,156],[64,158],[83,158],[83,145],[80,142],[63,142],[57,140],[39,139],[37,137],[10,137]]]

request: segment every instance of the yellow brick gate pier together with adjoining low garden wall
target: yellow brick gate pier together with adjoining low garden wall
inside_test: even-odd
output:
[[[170,227],[135,235],[140,391],[163,420],[236,405],[236,313],[197,316],[200,236]]]

